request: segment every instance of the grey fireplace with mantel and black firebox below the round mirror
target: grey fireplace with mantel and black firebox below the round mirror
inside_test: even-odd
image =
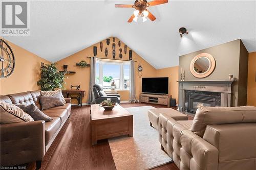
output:
[[[179,110],[195,113],[202,106],[230,106],[233,80],[179,82]]]

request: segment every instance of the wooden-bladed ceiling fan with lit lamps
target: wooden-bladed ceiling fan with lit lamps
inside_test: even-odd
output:
[[[143,22],[146,21],[146,17],[150,18],[152,21],[156,19],[156,17],[148,11],[147,7],[152,7],[160,4],[168,3],[168,0],[155,0],[151,2],[147,2],[146,0],[136,0],[134,5],[124,5],[124,4],[116,4],[116,8],[135,8],[136,10],[133,12],[133,15],[127,22],[132,22],[133,20],[137,22],[139,16],[142,16]]]

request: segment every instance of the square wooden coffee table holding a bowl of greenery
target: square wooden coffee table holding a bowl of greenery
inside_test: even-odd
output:
[[[113,110],[104,110],[99,104],[91,105],[92,144],[97,140],[121,135],[133,136],[133,115],[117,105]]]

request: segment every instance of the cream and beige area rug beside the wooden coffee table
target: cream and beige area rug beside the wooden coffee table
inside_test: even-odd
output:
[[[161,150],[158,131],[150,126],[147,110],[152,106],[125,108],[133,114],[133,137],[120,136],[109,139],[111,153],[117,170],[151,169],[172,159]]]

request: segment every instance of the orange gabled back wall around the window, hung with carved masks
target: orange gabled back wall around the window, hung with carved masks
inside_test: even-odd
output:
[[[127,53],[124,54],[124,43],[121,41],[121,46],[118,46],[118,38],[115,38],[115,44],[116,44],[116,58],[119,59],[119,48],[122,48],[122,55],[123,58],[121,60],[129,60],[129,50],[131,50],[127,46]],[[93,56],[93,46],[97,46],[97,56],[99,58],[109,58],[113,59],[112,57],[112,43],[113,43],[113,37],[110,37],[110,44],[106,44],[106,40],[102,40],[103,43],[103,50],[100,51],[100,42],[85,48],[84,50],[81,50],[67,58],[64,58],[60,61],[57,61],[57,67],[59,70],[63,69],[63,64],[68,65],[69,71],[76,71],[76,74],[73,75],[67,75],[67,78],[65,79],[66,82],[66,88],[70,89],[70,85],[81,85],[81,89],[86,90],[86,98],[83,98],[83,103],[87,103],[88,100],[88,92],[89,92],[89,83],[90,83],[90,67],[86,68],[80,68],[79,66],[76,66],[75,64],[80,62],[81,60],[85,60],[88,64],[90,64],[90,58],[87,58],[87,56]],[[109,54],[108,57],[105,57],[104,51],[105,48],[108,48]],[[141,78],[138,76],[138,65],[141,64],[143,67],[142,71],[142,77],[155,77],[156,76],[156,69],[147,63],[143,58],[141,58],[138,54],[136,54],[133,51],[133,60],[137,61],[135,63],[135,85],[136,85],[136,95],[137,100],[139,100],[139,94],[141,93]],[[118,91],[118,93],[121,95],[122,101],[129,101],[129,91],[127,90],[121,90]]]

